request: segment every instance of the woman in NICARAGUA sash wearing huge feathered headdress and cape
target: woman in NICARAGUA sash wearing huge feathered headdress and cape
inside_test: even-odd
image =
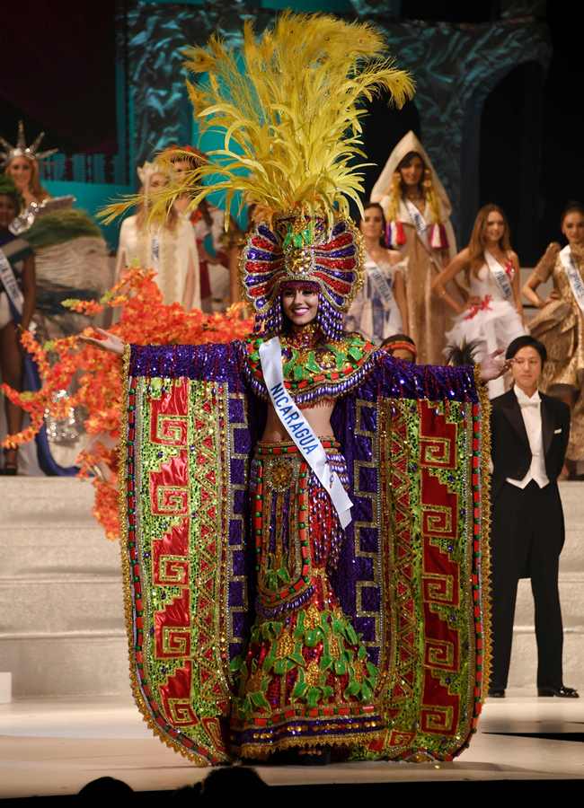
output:
[[[375,29],[332,17],[285,13],[259,41],[246,26],[243,59],[242,74],[215,38],[191,51],[210,75],[190,88],[199,118],[237,149],[227,138],[171,191],[197,188],[196,206],[243,190],[263,210],[241,264],[254,334],[90,340],[125,356],[137,703],[198,765],[450,760],[488,681],[480,391],[469,368],[395,362],[342,328],[363,261],[347,217],[358,140],[343,138],[364,92],[400,102],[411,83]]]

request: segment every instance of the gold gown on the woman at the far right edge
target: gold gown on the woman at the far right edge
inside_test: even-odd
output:
[[[571,253],[580,276],[584,278],[584,249],[572,248]],[[581,394],[584,382],[584,314],[571,292],[560,255],[553,266],[536,267],[534,275],[542,283],[551,276],[553,289],[560,295],[558,300],[546,303],[529,323],[532,336],[543,342],[547,350],[541,388],[551,395],[566,388],[577,391],[566,456],[573,461],[584,460],[584,396]]]

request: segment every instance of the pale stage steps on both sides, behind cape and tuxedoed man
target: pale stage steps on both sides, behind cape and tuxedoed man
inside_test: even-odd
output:
[[[584,688],[584,483],[562,483],[564,680]],[[119,544],[92,515],[93,487],[0,479],[0,671],[14,697],[127,695]],[[518,591],[509,687],[535,687],[529,581]]]

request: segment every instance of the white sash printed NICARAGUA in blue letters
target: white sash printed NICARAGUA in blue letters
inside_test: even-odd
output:
[[[332,505],[339,514],[341,527],[346,528],[351,520],[350,509],[353,504],[342,486],[339,475],[336,471],[331,470],[323,444],[315,435],[313,427],[310,426],[301,410],[296,407],[295,401],[284,387],[282,348],[278,337],[273,337],[261,344],[260,362],[271,403],[282,425],[331,497]]]

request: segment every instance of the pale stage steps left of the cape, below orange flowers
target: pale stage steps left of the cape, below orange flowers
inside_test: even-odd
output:
[[[13,696],[128,695],[119,543],[93,518],[93,487],[4,478],[0,497],[0,670]]]

